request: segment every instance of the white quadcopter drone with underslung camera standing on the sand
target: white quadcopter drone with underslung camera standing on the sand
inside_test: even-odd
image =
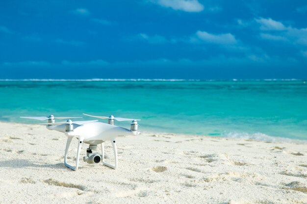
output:
[[[38,116],[38,117],[21,117],[21,118],[48,120],[47,123],[40,123],[40,125],[46,125],[46,128],[48,130],[55,130],[64,133],[67,136],[67,143],[64,155],[65,166],[75,171],[78,170],[81,146],[83,143],[85,143],[88,144],[89,147],[86,150],[87,154],[85,157],[83,157],[83,161],[90,164],[102,162],[103,165],[116,169],[118,166],[116,137],[137,136],[139,134],[139,132],[137,132],[139,126],[137,121],[140,119],[114,117],[113,115],[106,117],[106,116],[89,115],[85,113],[83,114],[90,117],[108,119],[108,123],[98,122],[98,120],[83,120],[83,121],[73,122],[71,120],[72,118],[81,118],[81,117],[54,117],[53,115],[50,115],[49,117]],[[68,120],[66,122],[55,122],[55,119],[68,119]],[[114,120],[132,121],[130,124],[130,130],[114,125]],[[75,137],[78,139],[77,160],[76,160],[76,166],[72,166],[67,163],[67,155],[72,139]],[[108,140],[111,141],[113,147],[114,158],[115,158],[114,165],[107,163],[104,160],[103,143]],[[101,151],[102,151],[101,154],[97,152],[97,145],[99,144],[101,145]]]

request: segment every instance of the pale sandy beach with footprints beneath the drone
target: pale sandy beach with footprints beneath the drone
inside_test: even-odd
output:
[[[117,139],[117,170],[85,163],[84,144],[73,171],[63,164],[66,140],[1,122],[0,203],[307,204],[307,143],[143,133]]]

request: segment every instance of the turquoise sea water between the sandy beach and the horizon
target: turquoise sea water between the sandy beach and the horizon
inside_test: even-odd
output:
[[[0,120],[139,118],[140,131],[307,139],[305,81],[0,81]],[[84,119],[92,119],[85,116]],[[117,122],[129,128],[129,121]]]

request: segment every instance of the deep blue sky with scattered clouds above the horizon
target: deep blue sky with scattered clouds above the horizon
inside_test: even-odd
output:
[[[0,79],[307,79],[305,0],[1,0]]]

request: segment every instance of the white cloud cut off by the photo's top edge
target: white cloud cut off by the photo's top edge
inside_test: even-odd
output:
[[[185,12],[201,12],[204,10],[204,5],[198,0],[154,0],[153,2],[163,7]]]

